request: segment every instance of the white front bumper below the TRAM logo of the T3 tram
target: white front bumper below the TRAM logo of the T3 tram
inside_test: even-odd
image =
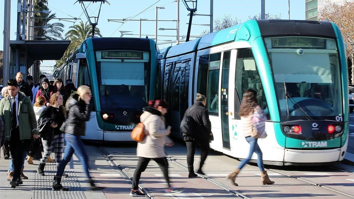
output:
[[[316,163],[331,163],[343,160],[346,148],[336,149],[322,149],[322,150],[297,150],[285,149],[284,163],[303,163],[303,164],[316,164]],[[286,165],[286,164],[285,164]]]

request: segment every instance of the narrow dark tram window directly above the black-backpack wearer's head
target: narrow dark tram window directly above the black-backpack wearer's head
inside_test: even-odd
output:
[[[206,96],[208,78],[209,55],[199,56],[197,92]]]

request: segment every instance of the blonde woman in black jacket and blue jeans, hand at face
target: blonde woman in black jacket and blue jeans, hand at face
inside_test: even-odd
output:
[[[83,166],[86,177],[89,178],[91,190],[102,190],[93,183],[93,179],[89,173],[89,156],[86,153],[84,143],[80,136],[85,136],[85,121],[89,121],[90,100],[92,98],[89,86],[82,85],[78,88],[77,93],[73,93],[67,101],[67,109],[69,109],[68,118],[65,121],[65,156],[58,166],[57,174],[54,176],[53,191],[68,191],[69,189],[61,185],[61,178],[65,166],[69,163],[71,157],[75,153]]]

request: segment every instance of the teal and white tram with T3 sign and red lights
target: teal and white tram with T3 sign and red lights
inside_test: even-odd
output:
[[[199,92],[207,97],[211,147],[246,158],[249,145],[238,110],[251,88],[268,118],[268,137],[258,140],[265,164],[343,160],[348,70],[334,23],[250,20],[165,50],[162,67],[163,99],[171,105],[167,118],[175,135],[181,135],[180,121]]]

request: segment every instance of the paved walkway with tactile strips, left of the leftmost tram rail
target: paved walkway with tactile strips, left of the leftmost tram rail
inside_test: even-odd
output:
[[[11,188],[6,175],[10,160],[3,159],[1,151],[0,160],[0,198],[45,198],[45,199],[86,199],[86,198],[130,198],[130,182],[120,177],[117,170],[111,166],[107,160],[93,146],[85,146],[90,156],[90,173],[101,187],[106,187],[104,191],[91,192],[87,189],[89,183],[82,171],[82,165],[78,158],[73,157],[72,165],[68,164],[65,173],[68,178],[63,178],[62,184],[68,187],[68,192],[52,191],[53,176],[56,174],[57,167],[55,163],[47,163],[45,167],[46,176],[39,176],[36,172],[39,161],[34,160],[34,165],[29,165],[25,161],[24,174],[28,180],[23,180],[23,184]],[[53,156],[52,156],[53,158]]]

